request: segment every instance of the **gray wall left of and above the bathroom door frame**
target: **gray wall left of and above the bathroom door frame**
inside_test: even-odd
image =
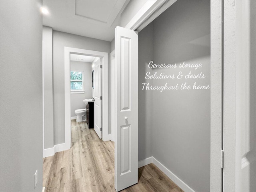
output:
[[[53,31],[54,145],[65,142],[64,47],[108,52],[110,42]]]

